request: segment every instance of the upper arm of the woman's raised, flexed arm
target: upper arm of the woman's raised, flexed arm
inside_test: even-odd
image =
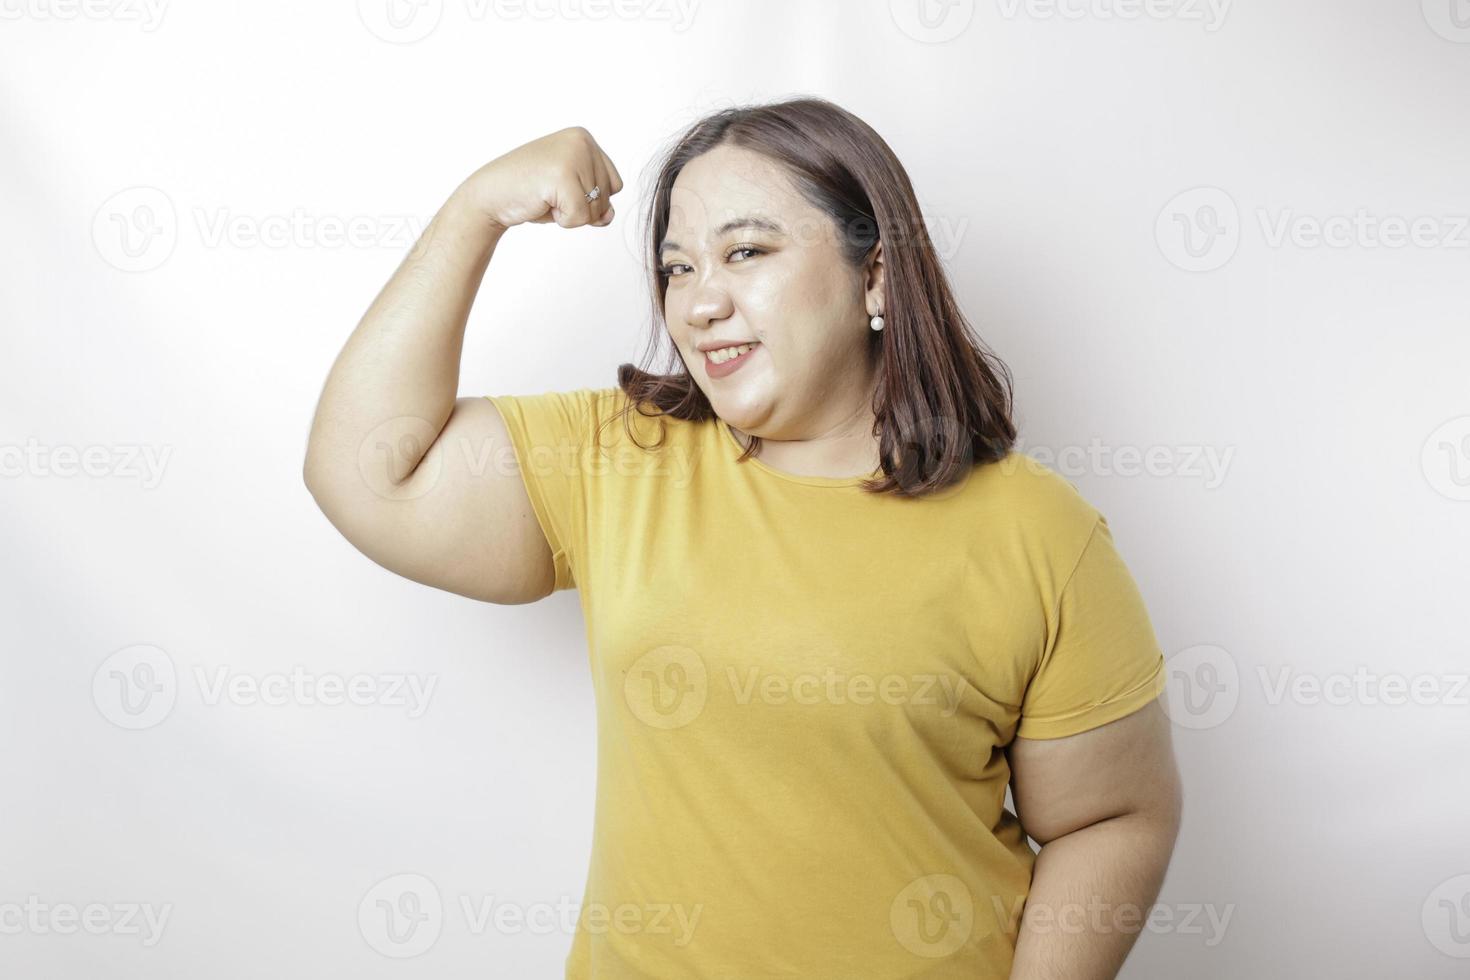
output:
[[[510,436],[495,406],[457,398],[401,482],[378,479],[366,447],[357,460],[362,479],[313,488],[313,497],[344,538],[390,572],[487,602],[531,602],[551,592],[554,566],[507,454]]]

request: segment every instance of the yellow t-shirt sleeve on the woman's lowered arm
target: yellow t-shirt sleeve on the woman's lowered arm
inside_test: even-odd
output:
[[[1132,714],[1163,692],[1164,654],[1101,514],[1047,627],[1017,736],[1058,739],[1086,732]]]

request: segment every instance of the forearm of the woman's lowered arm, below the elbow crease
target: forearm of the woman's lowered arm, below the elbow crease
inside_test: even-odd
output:
[[[1042,845],[1010,980],[1113,980],[1158,898],[1177,826],[1130,813]]]

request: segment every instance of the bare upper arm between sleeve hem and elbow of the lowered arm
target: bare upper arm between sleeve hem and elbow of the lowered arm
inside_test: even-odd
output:
[[[1078,735],[1016,738],[1005,754],[1016,815],[1036,843],[1130,813],[1179,821],[1183,793],[1163,695]]]

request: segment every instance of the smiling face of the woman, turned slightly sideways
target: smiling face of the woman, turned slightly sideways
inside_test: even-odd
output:
[[[729,425],[767,439],[869,425],[882,245],[851,267],[832,219],[778,163],[731,145],[691,160],[673,184],[660,263],[669,334]],[[756,347],[723,366],[698,350],[747,341]]]

